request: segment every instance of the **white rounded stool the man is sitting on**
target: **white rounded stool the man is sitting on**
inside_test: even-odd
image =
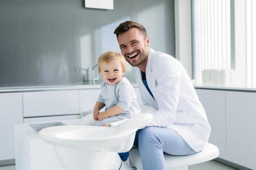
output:
[[[129,151],[130,164],[137,170],[143,170],[139,148],[133,147]],[[189,165],[210,161],[219,156],[219,149],[213,144],[207,143],[201,152],[193,155],[174,156],[164,153],[165,170],[187,170]]]

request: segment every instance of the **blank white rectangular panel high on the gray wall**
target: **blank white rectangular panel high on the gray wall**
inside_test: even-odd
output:
[[[114,0],[85,0],[85,8],[114,9]]]

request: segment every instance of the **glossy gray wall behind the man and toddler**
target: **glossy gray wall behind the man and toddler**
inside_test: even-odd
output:
[[[120,52],[113,31],[126,20],[146,27],[155,51],[175,56],[174,0],[115,0],[114,10],[83,0],[1,0],[0,87],[91,84],[99,55]]]

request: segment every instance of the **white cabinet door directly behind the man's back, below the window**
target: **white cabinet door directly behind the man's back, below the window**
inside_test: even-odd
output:
[[[220,158],[226,159],[225,91],[196,89],[196,93],[211,125],[209,143],[219,148]]]

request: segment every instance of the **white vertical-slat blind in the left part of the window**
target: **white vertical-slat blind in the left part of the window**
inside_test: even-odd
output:
[[[204,69],[230,69],[230,0],[194,0],[195,80]]]

